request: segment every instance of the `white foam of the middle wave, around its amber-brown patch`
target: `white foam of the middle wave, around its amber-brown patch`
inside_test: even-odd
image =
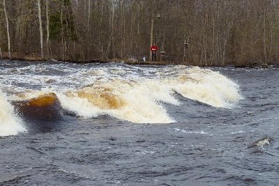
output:
[[[70,96],[58,93],[57,96],[64,109],[73,111],[78,116],[84,118],[107,114],[133,123],[175,122],[173,118],[167,115],[165,107],[156,102],[153,97],[149,96],[149,93],[146,92],[146,87],[138,86],[137,84],[131,86],[130,84],[126,84],[126,82],[111,82],[111,84],[105,84],[103,86],[114,87],[112,94],[115,95],[115,99],[119,99],[119,102],[123,102],[123,106],[103,108],[100,105],[92,104],[86,98],[79,98],[77,93],[71,93]],[[89,88],[89,91],[93,90],[94,87]]]

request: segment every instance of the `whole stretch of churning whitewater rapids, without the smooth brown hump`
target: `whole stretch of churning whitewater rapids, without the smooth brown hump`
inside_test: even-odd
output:
[[[13,70],[13,75],[11,69],[3,70],[0,83],[7,96],[1,93],[0,100],[1,107],[8,110],[1,108],[0,117],[14,132],[0,135],[24,131],[10,100],[28,100],[45,93],[56,93],[61,107],[80,118],[107,115],[132,123],[176,122],[164,106],[180,107],[176,94],[228,109],[242,99],[239,86],[220,72],[182,65],[151,68],[57,63],[24,66]]]

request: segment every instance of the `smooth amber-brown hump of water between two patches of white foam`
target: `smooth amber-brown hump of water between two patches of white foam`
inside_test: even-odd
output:
[[[13,105],[26,121],[56,121],[61,118],[61,104],[55,93],[30,100],[15,101]]]

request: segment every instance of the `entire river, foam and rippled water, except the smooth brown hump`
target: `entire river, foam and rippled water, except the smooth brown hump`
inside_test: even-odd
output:
[[[0,61],[0,185],[278,185],[278,75]],[[13,106],[45,93],[56,121]]]

